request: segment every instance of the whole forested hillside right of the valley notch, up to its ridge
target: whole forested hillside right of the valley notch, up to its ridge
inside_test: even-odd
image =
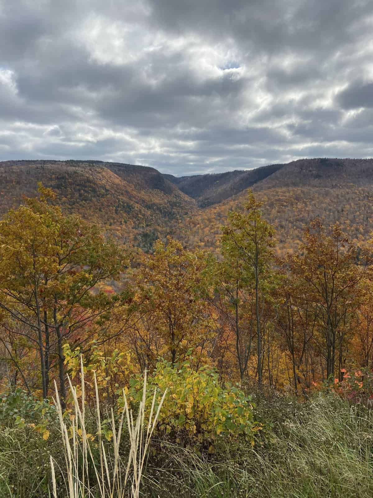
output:
[[[324,225],[345,226],[352,239],[366,241],[373,231],[373,160],[302,159],[282,165],[251,186],[275,226],[278,254],[295,249],[304,225],[320,217]],[[199,210],[179,228],[188,246],[215,250],[229,211],[242,211],[243,190],[220,204]]]

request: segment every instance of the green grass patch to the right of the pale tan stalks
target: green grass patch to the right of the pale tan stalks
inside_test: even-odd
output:
[[[291,401],[288,401],[291,403]],[[163,498],[371,498],[373,413],[334,398],[293,409],[254,448],[222,443],[215,455],[164,447],[155,471]]]

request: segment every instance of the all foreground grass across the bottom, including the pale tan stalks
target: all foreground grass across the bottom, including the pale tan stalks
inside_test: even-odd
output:
[[[96,406],[93,431],[92,415],[83,414],[83,399],[74,393],[74,420],[63,418],[62,426],[61,419],[53,423],[48,441],[27,426],[0,427],[1,498],[47,498],[50,469],[55,474],[50,484],[53,498],[373,496],[373,410],[364,406],[333,396],[297,403],[261,392],[256,396],[256,419],[268,419],[274,427],[256,439],[254,448],[243,439],[219,436],[212,454],[206,446],[183,447],[159,433],[157,440],[157,413],[151,421],[145,419],[143,405],[135,416],[128,404],[118,417],[110,412],[113,438],[107,441],[97,434],[92,441],[88,431],[104,424],[100,411]],[[63,426],[71,436],[68,440]]]

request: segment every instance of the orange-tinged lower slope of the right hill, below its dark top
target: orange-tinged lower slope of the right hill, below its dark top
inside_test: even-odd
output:
[[[292,251],[300,243],[304,225],[320,217],[325,226],[337,221],[345,226],[353,240],[364,241],[373,230],[373,191],[364,188],[276,188],[256,191],[265,204],[266,220],[274,225],[279,253]],[[222,204],[201,210],[180,227],[177,237],[187,246],[216,249],[221,226],[229,211],[243,211],[243,192]]]

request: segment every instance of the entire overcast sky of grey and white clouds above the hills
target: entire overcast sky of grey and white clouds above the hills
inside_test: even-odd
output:
[[[373,155],[372,0],[0,0],[0,160]]]

